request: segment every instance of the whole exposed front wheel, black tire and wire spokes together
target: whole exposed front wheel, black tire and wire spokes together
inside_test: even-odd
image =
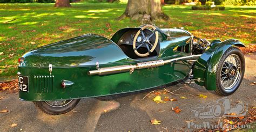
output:
[[[217,68],[215,92],[220,96],[229,96],[237,91],[244,78],[245,58],[241,50],[230,47],[221,57]]]

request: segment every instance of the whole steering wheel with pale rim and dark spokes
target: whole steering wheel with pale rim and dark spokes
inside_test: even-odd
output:
[[[152,28],[153,29],[153,33],[150,34],[149,36],[145,36],[143,30],[145,30],[146,28]],[[142,41],[137,41],[138,39],[138,36],[142,34]],[[153,36],[153,35],[156,35],[156,40],[154,41],[154,44],[152,45],[151,42],[150,42],[150,38]],[[139,46],[136,47],[136,43],[139,44]],[[134,36],[134,39],[133,39],[133,44],[132,44],[132,48],[134,50],[134,53],[140,57],[145,57],[145,56],[148,56],[150,55],[154,49],[156,49],[157,47],[157,43],[158,43],[158,31],[156,30],[156,27],[152,26],[152,25],[145,25],[143,26],[142,28],[140,28],[140,30],[137,32],[137,34]],[[139,49],[141,46],[143,45],[146,45],[147,47],[147,53],[145,54],[141,54],[137,51],[137,49]]]

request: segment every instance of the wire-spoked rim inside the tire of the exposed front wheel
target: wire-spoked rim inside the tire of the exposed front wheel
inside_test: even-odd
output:
[[[241,60],[238,55],[231,54],[226,58],[221,68],[221,85],[226,90],[232,89],[232,87],[238,82],[240,75]]]

